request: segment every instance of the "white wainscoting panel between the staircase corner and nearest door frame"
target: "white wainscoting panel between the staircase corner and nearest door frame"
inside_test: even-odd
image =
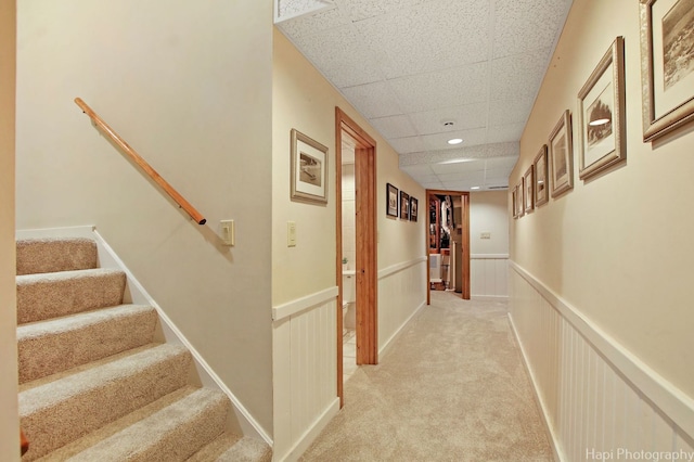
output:
[[[295,461],[339,410],[337,287],[272,309],[273,461]]]

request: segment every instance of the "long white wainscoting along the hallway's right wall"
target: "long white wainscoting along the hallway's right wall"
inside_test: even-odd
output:
[[[659,460],[693,460],[694,400],[523,268],[510,267],[511,323],[555,457],[654,460],[647,454],[659,452]]]

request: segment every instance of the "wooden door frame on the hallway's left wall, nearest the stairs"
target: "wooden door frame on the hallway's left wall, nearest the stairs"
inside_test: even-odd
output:
[[[378,363],[378,266],[377,266],[377,191],[376,141],[359,125],[335,107],[336,163],[336,258],[337,273],[337,395],[344,406],[343,387],[343,214],[342,214],[342,146],[343,131],[352,138],[355,149],[355,206],[357,226],[356,292],[357,292],[357,364]]]

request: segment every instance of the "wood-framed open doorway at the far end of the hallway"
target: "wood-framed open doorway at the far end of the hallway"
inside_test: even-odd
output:
[[[427,190],[427,304],[430,291],[470,299],[470,193]]]

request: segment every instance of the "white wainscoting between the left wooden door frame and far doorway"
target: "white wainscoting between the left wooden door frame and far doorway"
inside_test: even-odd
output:
[[[426,305],[426,265],[427,258],[420,257],[378,271],[378,354]]]

